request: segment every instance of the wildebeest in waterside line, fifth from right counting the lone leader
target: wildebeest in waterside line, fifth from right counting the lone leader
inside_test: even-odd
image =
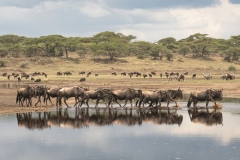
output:
[[[97,108],[98,103],[100,100],[102,100],[106,107],[109,107],[110,103],[112,102],[112,94],[110,92],[110,90],[108,89],[96,89],[96,90],[88,90],[86,91],[86,104],[87,107],[89,108],[89,100],[96,100],[96,104],[95,104],[95,108]],[[107,99],[108,103],[105,101]],[[82,106],[83,101],[81,102],[81,104],[79,105],[80,107]]]

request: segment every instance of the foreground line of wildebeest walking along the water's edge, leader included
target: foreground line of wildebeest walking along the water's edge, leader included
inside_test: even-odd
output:
[[[206,89],[204,91],[196,91],[190,94],[187,106],[190,107],[193,103],[193,106],[196,107],[199,101],[206,101],[206,107],[208,107],[209,101],[212,101],[216,105],[216,101],[221,101],[223,94],[223,89]],[[72,87],[46,87],[43,85],[37,86],[28,86],[26,88],[19,88],[17,90],[16,103],[19,103],[19,106],[23,106],[24,101],[27,106],[32,106],[32,98],[36,97],[37,102],[41,104],[41,97],[43,102],[47,106],[51,98],[56,98],[56,106],[62,106],[62,99],[67,107],[67,100],[71,97],[75,98],[74,107],[81,107],[83,104],[86,104],[89,107],[89,100],[96,100],[95,107],[98,107],[99,101],[102,100],[106,107],[113,107],[113,104],[116,103],[120,107],[125,107],[127,102],[130,101],[131,107],[133,107],[133,100],[135,100],[136,107],[161,107],[161,103],[165,102],[167,108],[169,103],[175,102],[175,105],[178,106],[177,100],[183,98],[183,92],[180,88],[178,89],[169,89],[169,90],[155,90],[155,91],[146,91],[141,89],[107,89],[107,88],[98,88],[95,90],[90,90],[88,87],[72,86]],[[125,101],[123,106],[119,101]]]

